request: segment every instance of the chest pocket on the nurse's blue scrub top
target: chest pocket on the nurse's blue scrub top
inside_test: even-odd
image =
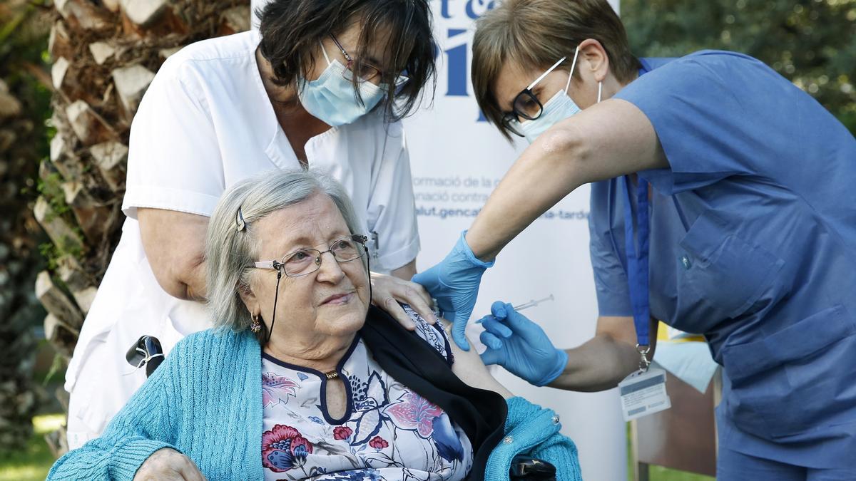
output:
[[[741,239],[734,230],[712,212],[704,212],[680,243],[687,252],[681,259],[682,281],[723,318],[747,312],[784,266],[781,258]]]

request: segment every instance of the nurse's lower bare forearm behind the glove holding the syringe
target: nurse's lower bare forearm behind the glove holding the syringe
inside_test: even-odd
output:
[[[639,369],[636,348],[609,336],[595,336],[580,347],[565,352],[568,353],[568,365],[549,384],[551,388],[603,391],[615,388],[621,379]]]

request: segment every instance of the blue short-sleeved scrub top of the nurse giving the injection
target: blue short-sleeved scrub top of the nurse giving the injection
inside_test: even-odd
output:
[[[618,92],[657,131],[651,315],[723,365],[721,440],[813,467],[856,463],[856,140],[763,62],[643,59]],[[602,316],[631,316],[617,180],[591,187]],[[635,206],[633,206],[635,209]]]

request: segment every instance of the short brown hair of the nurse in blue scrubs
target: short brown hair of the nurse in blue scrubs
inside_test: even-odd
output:
[[[493,95],[496,77],[505,62],[521,68],[549,68],[566,56],[570,68],[574,50],[585,39],[596,39],[609,56],[615,78],[633,79],[639,60],[630,53],[627,33],[607,0],[506,0],[476,22],[473,38],[473,91],[479,108],[506,139],[503,112]]]

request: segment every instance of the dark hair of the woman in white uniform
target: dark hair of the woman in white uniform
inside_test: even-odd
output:
[[[431,7],[427,0],[273,0],[256,11],[259,16],[259,50],[273,68],[271,79],[279,86],[299,88],[298,80],[314,68],[310,52],[330,34],[342,33],[354,21],[362,31],[356,51],[364,51],[376,34],[387,35],[383,66],[410,79],[403,86],[388,87],[387,100],[378,105],[388,122],[400,120],[419,105],[423,87],[435,70],[431,33]],[[354,60],[361,62],[360,56]],[[360,65],[354,70],[360,71]],[[433,89],[432,89],[433,91]],[[360,91],[354,80],[354,92]]]

